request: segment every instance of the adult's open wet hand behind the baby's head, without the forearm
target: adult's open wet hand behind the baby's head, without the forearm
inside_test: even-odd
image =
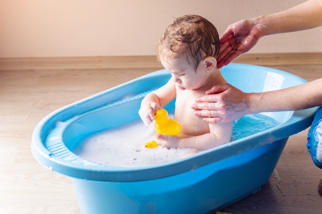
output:
[[[254,20],[242,20],[228,26],[220,38],[217,67],[228,65],[238,56],[251,50],[263,36]]]

